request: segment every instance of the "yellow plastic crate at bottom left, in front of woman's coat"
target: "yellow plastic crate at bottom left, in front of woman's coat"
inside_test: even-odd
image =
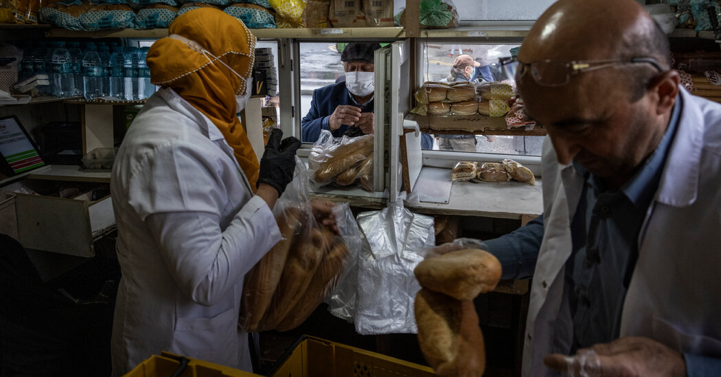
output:
[[[169,377],[180,368],[180,356],[163,351],[161,355],[152,355],[148,360],[138,364],[123,377]],[[188,358],[185,371],[180,377],[250,377],[259,376],[208,361]]]

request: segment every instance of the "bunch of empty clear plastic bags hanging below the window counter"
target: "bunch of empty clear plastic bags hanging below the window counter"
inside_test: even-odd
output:
[[[413,269],[419,252],[435,244],[433,217],[402,204],[358,214],[366,242],[358,258],[355,331],[361,335],[416,333],[413,301],[420,290]]]

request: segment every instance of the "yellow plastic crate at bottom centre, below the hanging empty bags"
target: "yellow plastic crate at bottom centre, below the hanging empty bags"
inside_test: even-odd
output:
[[[271,377],[425,377],[432,368],[304,335]]]

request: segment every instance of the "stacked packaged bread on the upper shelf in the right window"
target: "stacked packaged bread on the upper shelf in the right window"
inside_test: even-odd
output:
[[[428,81],[415,92],[417,106],[411,110],[419,115],[464,117],[477,114],[504,117],[508,113],[508,99],[515,96],[506,83],[442,83]]]

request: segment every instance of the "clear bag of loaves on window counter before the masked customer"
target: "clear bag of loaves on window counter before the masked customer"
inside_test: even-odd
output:
[[[359,183],[371,191],[373,135],[333,137],[328,130],[322,130],[308,156],[308,171],[318,186]]]

